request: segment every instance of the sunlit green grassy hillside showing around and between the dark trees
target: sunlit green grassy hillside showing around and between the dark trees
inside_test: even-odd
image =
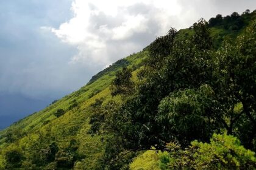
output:
[[[210,20],[214,48],[219,49],[227,37],[235,39],[243,35],[254,17],[255,12],[252,12],[230,21]],[[193,28],[182,29],[176,39],[193,35]],[[110,85],[116,73],[128,67],[132,70],[132,80],[138,83],[137,73],[145,66],[149,53],[149,47],[146,47],[116,61],[76,92],[1,131],[0,169],[100,169],[98,159],[104,154],[107,141],[104,134],[88,134],[91,115],[94,115],[91,106],[97,100],[101,100],[102,105],[109,101],[122,103],[127,96],[111,95]],[[138,157],[134,158],[131,169],[161,169],[158,162],[168,157],[165,152],[155,154],[155,151],[135,155]]]

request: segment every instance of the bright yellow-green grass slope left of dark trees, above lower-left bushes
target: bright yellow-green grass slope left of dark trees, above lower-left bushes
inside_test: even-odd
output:
[[[120,97],[113,98],[109,90],[115,73],[129,65],[128,67],[132,68],[135,74],[147,55],[148,52],[144,50],[117,61],[94,76],[86,86],[1,131],[0,154],[9,148],[17,147],[23,148],[27,157],[33,157],[30,151],[35,149],[35,144],[39,143],[35,152],[40,152],[41,149],[48,148],[52,141],[56,141],[58,147],[64,149],[69,141],[76,140],[81,160],[84,160],[88,166],[93,164],[97,155],[102,152],[102,142],[101,137],[91,137],[87,134],[90,127],[88,121],[93,114],[90,104],[98,98],[104,98],[104,102],[119,100]],[[65,110],[65,114],[59,118],[54,115],[58,109]],[[3,157],[0,156],[0,160],[2,159]]]

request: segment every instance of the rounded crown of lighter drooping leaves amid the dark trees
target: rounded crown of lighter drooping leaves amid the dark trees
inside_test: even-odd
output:
[[[174,137],[169,141],[178,140],[186,146],[195,139],[207,141],[221,127],[218,114],[212,88],[202,85],[197,90],[180,90],[164,98],[155,120],[162,124],[163,135]]]

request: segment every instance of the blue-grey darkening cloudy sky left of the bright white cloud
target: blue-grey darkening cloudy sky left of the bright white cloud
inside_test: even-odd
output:
[[[71,2],[0,1],[0,129],[79,88],[92,75],[80,64],[69,64],[76,47],[47,30],[72,16]]]

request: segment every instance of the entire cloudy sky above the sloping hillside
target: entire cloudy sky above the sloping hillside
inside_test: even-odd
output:
[[[255,0],[0,0],[0,129],[84,86],[171,27]]]

